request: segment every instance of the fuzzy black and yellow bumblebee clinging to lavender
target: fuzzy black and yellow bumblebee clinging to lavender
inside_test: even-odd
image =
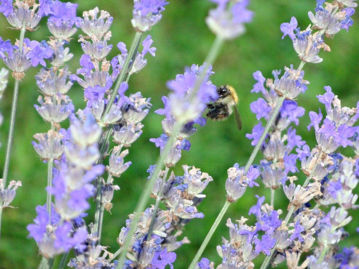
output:
[[[209,109],[207,117],[213,119],[214,121],[224,121],[233,113],[236,117],[237,127],[239,130],[242,129],[242,120],[239,115],[237,103],[238,96],[236,90],[229,85],[217,86],[217,93],[219,95],[218,100],[212,104],[208,104],[207,108]]]

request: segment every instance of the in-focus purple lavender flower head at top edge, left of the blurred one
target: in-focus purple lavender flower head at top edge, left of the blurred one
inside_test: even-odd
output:
[[[165,0],[134,0],[132,26],[137,32],[146,32],[162,18]]]

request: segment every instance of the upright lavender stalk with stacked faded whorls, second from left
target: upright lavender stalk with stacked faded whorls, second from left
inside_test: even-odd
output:
[[[47,133],[37,133],[34,138],[39,142],[33,142],[36,152],[41,160],[48,164],[47,188],[51,187],[53,160],[61,158],[64,152],[62,143],[63,131],[60,122],[65,121],[74,112],[74,105],[67,96],[73,83],[66,81],[70,72],[65,62],[69,61],[73,54],[69,53],[64,45],[70,41],[70,37],[76,32],[74,24],[78,20],[76,17],[77,4],[62,3],[60,1],[50,2],[49,18],[47,27],[53,36],[47,42],[47,46],[52,50],[50,57],[51,68],[43,68],[36,76],[36,83],[43,97],[38,97],[41,106],[35,105],[37,112],[44,121],[51,124],[51,129]],[[51,214],[51,194],[47,192],[46,199],[47,211]]]

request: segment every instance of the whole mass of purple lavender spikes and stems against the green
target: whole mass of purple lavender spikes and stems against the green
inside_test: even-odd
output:
[[[131,161],[125,162],[124,157],[142,134],[141,121],[151,108],[150,99],[144,98],[140,92],[125,95],[129,87],[127,82],[131,75],[145,67],[147,53],[155,56],[156,48],[151,47],[151,36],[142,37],[162,18],[168,2],[134,0],[131,20],[136,32],[134,41],[128,50],[125,43],[119,42],[117,48],[121,53],[107,60],[112,49],[109,29],[113,21],[107,11],[96,7],[84,11],[81,18],[76,16],[78,5],[70,2],[0,1],[0,12],[14,29],[20,30],[20,38],[14,45],[0,37],[0,57],[13,71],[16,93],[4,178],[0,179],[0,222],[2,210],[12,207],[9,204],[22,184],[11,180],[5,188],[19,83],[31,66],[44,66],[35,77],[43,95],[39,96],[40,105],[35,105],[35,109],[51,126],[46,133],[34,135],[38,143],[33,142],[33,146],[48,165],[47,200],[44,206],[36,207],[34,223],[27,226],[29,237],[36,241],[43,257],[39,268],[51,268],[53,259],[59,254],[62,254],[60,268],[63,268],[71,249],[75,257],[67,265],[75,268],[162,269],[167,265],[173,268],[174,251],[182,244],[190,243],[186,236],[178,237],[182,236],[183,227],[190,220],[204,217],[197,207],[206,197],[203,192],[213,179],[195,166],[183,165],[183,176],[176,176],[169,170],[181,159],[182,150],[190,150],[188,138],[197,131],[194,124],[205,125],[206,119],[202,114],[207,104],[219,98],[217,87],[209,80],[214,74],[214,55],[225,40],[244,33],[244,23],[252,19],[252,11],[247,9],[249,0],[210,1],[217,6],[210,10],[206,23],[216,35],[216,41],[203,65],[194,64],[186,68],[184,74],[177,75],[167,84],[171,93],[162,97],[164,108],[155,111],[165,115],[163,134],[150,139],[159,147],[160,161],[148,169],[144,194],[149,195],[143,195],[145,198],[141,198],[136,212],[129,215],[126,226],[119,232],[117,242],[120,248],[115,253],[110,253],[100,244],[103,214],[111,211],[114,191],[120,189],[114,184],[114,178],[120,177],[131,165]],[[320,50],[330,51],[323,38],[333,37],[340,29],[349,30],[353,25],[350,17],[357,6],[354,1],[324,3],[317,0],[316,14],[308,13],[313,25],[302,31],[294,17],[290,23],[283,23],[280,27],[283,38],[288,35],[292,39],[301,61],[299,67],[284,67],[282,76],[281,70],[274,70],[274,80],[265,79],[260,71],[253,74],[258,82],[252,92],[262,93],[264,99],[259,98],[250,108],[258,120],[264,118],[266,127],[259,122],[246,137],[256,146],[253,156],[260,149],[264,159],[259,165],[248,161],[244,167],[236,163],[228,169],[225,182],[227,200],[219,216],[223,217],[225,210],[242,197],[247,187],[259,187],[258,177],[271,190],[271,199],[270,204],[264,203],[265,197],[256,195],[258,202],[248,212],[248,215],[256,217],[252,226],[244,217],[237,221],[238,224],[228,219],[230,239],[223,238],[223,244],[217,247],[222,259],[217,268],[254,268],[253,260],[261,253],[266,255],[261,268],[266,268],[269,263],[277,266],[284,261],[288,268],[359,266],[356,247],[340,250],[338,246],[339,241],[348,236],[344,226],[352,220],[349,209],[358,208],[355,204],[358,195],[354,189],[359,183],[359,127],[353,125],[359,118],[359,102],[355,108],[342,107],[331,87],[325,86],[325,93],[317,96],[325,105],[325,119],[320,109],[319,113],[309,112],[311,124],[308,130],[314,128],[317,140],[312,149],[290,126],[292,123],[298,126],[299,117],[305,114],[304,108],[295,101],[309,84],[304,80],[304,63],[323,61],[318,56]],[[52,35],[49,40],[38,42],[25,38],[25,32],[36,30],[44,16]],[[80,68],[71,75],[66,62],[73,54],[65,46],[77,28],[85,34],[80,34],[78,39],[84,54],[80,57]],[[143,46],[141,52],[137,51],[140,43]],[[1,70],[0,98],[6,88],[7,76],[8,71]],[[67,95],[75,81],[83,88],[86,101],[86,106],[76,112]],[[61,128],[60,123],[67,118],[70,127]],[[113,148],[109,143],[111,137],[117,145]],[[337,153],[341,146],[353,147],[354,159]],[[103,165],[107,156],[108,165]],[[294,175],[299,172],[297,160],[301,161],[301,170],[306,176],[302,184],[297,183],[299,179]],[[107,173],[106,180],[104,173]],[[274,207],[275,192],[281,188],[289,200],[289,212],[284,219],[280,218],[283,210]],[[148,196],[155,199],[155,204],[144,209],[141,204],[146,203]],[[95,218],[86,225],[84,217],[90,208],[91,197],[96,202]],[[310,204],[312,199],[316,203],[314,207]],[[165,210],[159,208],[160,202],[164,203]],[[327,212],[321,206],[331,207]],[[219,221],[216,220],[211,234]],[[210,236],[202,246],[205,247]],[[214,268],[214,263],[206,258],[197,263],[197,256],[201,255],[204,247],[190,268]],[[120,253],[120,259],[115,260]],[[299,265],[304,253],[309,254]]]

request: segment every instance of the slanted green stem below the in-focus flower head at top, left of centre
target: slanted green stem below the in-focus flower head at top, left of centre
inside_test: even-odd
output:
[[[140,45],[141,37],[142,37],[142,33],[136,32],[135,37],[134,37],[134,40],[133,40],[132,43],[131,43],[130,50],[129,50],[128,54],[127,54],[126,61],[125,61],[125,63],[124,63],[123,66],[122,66],[122,70],[121,70],[120,76],[118,77],[118,79],[117,79],[117,81],[116,81],[116,85],[115,85],[115,88],[113,89],[111,98],[110,98],[110,100],[108,101],[108,104],[106,105],[106,110],[105,110],[105,112],[104,112],[103,115],[102,115],[101,122],[103,121],[104,116],[105,116],[106,114],[108,114],[108,112],[109,112],[110,109],[111,109],[111,106],[112,106],[112,104],[113,104],[113,101],[114,101],[115,98],[116,98],[117,91],[118,91],[118,89],[120,88],[120,85],[121,85],[121,83],[124,81],[125,75],[126,75],[127,72],[128,72],[127,69],[129,68],[130,62],[131,62],[132,58],[134,57],[134,55],[135,55],[135,53],[136,53],[136,49],[138,49],[138,47],[139,47],[139,45]]]

